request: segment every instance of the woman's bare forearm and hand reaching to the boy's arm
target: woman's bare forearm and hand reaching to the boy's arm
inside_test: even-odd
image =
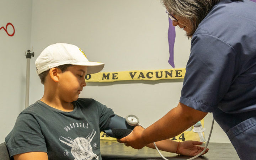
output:
[[[206,115],[207,112],[198,111],[183,103],[178,103],[177,107],[145,130],[136,126],[128,136],[119,139],[118,142],[125,143],[126,146],[132,146],[135,149],[141,149],[149,143],[175,137]]]

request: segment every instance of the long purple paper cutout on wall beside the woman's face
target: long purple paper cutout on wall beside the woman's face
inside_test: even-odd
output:
[[[169,29],[168,29],[168,42],[169,42],[169,64],[172,66],[172,68],[175,68],[174,65],[174,42],[175,42],[175,27],[172,25],[172,20],[169,19]]]

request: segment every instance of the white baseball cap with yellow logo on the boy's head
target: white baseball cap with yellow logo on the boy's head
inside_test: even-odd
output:
[[[39,75],[44,71],[63,64],[88,66],[88,74],[98,73],[104,67],[104,63],[89,62],[85,53],[77,46],[67,43],[56,43],[46,47],[37,57],[37,74]]]

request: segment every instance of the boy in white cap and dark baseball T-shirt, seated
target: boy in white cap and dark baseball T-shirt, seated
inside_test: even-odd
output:
[[[84,52],[71,44],[45,48],[36,59],[44,95],[21,112],[7,135],[10,156],[15,160],[101,160],[100,131],[109,129],[114,112],[93,99],[78,97],[86,86],[85,75],[103,67],[104,63],[89,62]],[[167,150],[175,152],[177,148],[176,152],[187,155],[203,149],[194,145],[202,143],[193,141],[178,146],[168,140],[165,144],[172,145]]]

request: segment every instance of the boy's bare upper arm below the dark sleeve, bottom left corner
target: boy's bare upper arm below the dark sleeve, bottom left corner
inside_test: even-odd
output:
[[[46,152],[27,152],[14,155],[14,160],[48,160]]]

